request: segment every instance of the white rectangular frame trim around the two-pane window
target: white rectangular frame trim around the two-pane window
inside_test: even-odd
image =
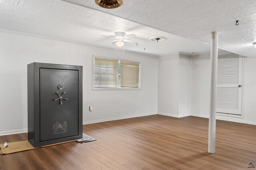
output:
[[[122,87],[122,88],[95,88],[94,87],[94,58],[102,58],[102,59],[110,59],[110,60],[118,60],[118,61],[124,61],[124,62],[134,62],[134,63],[140,63],[140,74],[139,74],[139,87],[138,88],[128,88],[128,87]],[[142,90],[142,63],[140,61],[132,61],[132,60],[126,60],[126,59],[117,59],[117,58],[110,58],[110,57],[101,57],[92,55],[92,90],[100,91],[100,90]]]

